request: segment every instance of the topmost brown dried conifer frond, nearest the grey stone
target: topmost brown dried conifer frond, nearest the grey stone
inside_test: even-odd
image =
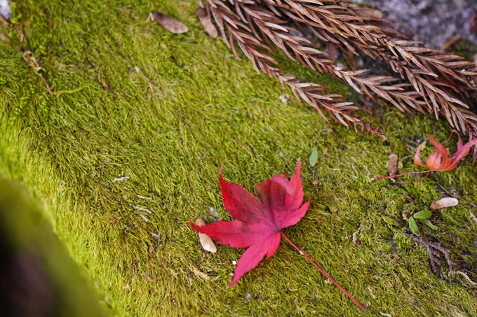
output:
[[[306,22],[311,27],[316,27],[328,34],[338,34],[342,38],[358,40],[365,46],[374,44],[387,48],[392,52],[391,56],[398,57],[410,65],[414,64],[424,73],[441,73],[446,78],[450,76],[454,82],[457,80],[459,84],[464,83],[471,90],[477,90],[476,64],[466,62],[462,57],[448,52],[417,47],[419,42],[407,41],[402,34],[392,29],[391,22],[369,16],[368,9],[356,6],[354,3],[326,1],[332,5],[323,5],[318,1],[309,0],[247,2],[266,3],[269,8],[275,6],[293,20],[301,20],[300,22]],[[323,36],[326,41],[327,35],[323,34]]]

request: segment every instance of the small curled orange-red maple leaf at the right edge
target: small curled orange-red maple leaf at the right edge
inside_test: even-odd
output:
[[[445,143],[447,143],[450,138],[452,137],[452,134],[457,134],[459,137],[459,141],[457,141],[457,152],[449,156],[449,149],[445,148]],[[431,141],[431,144],[436,148],[429,157],[427,157],[426,164],[422,163],[420,153],[421,153],[421,147],[417,147],[416,154],[414,155],[414,163],[419,165],[419,166],[426,166],[429,169],[426,171],[409,171],[408,173],[404,174],[399,174],[399,175],[394,175],[394,176],[384,176],[384,177],[379,177],[376,178],[376,181],[380,181],[384,178],[394,178],[397,176],[403,176],[407,174],[421,174],[421,173],[427,173],[426,177],[429,176],[431,171],[452,171],[452,169],[455,169],[459,162],[467,155],[469,154],[469,150],[471,149],[472,146],[475,146],[477,144],[477,139],[473,139],[472,141],[469,141],[465,145],[462,144],[462,140],[460,139],[459,132],[456,130],[452,130],[450,132],[449,139],[444,142],[444,144],[438,143],[432,134],[429,135],[429,140]],[[475,162],[475,160],[474,160]],[[420,179],[419,181],[424,181],[426,177]]]

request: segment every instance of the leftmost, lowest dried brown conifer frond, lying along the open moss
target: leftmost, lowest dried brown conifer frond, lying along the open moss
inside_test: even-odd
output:
[[[222,1],[208,0],[207,8],[212,13],[215,22],[217,22],[225,43],[227,43],[238,59],[240,57],[238,57],[236,52],[235,43],[250,59],[258,72],[261,69],[267,75],[277,78],[283,87],[286,83],[298,99],[302,99],[316,108],[316,111],[325,120],[327,118],[323,114],[322,108],[343,125],[349,126],[348,122],[352,122],[355,128],[356,126],[361,126],[361,129],[366,129],[373,135],[377,134],[383,139],[387,139],[384,134],[378,131],[379,128],[372,128],[370,123],[366,124],[363,122],[363,119],[351,115],[351,111],[356,110],[357,107],[351,102],[343,101],[342,96],[339,94],[325,94],[325,89],[315,83],[300,83],[295,80],[294,76],[285,76],[276,67],[277,62],[268,54],[269,47],[261,43],[253,34],[254,31],[243,23],[241,17]]]

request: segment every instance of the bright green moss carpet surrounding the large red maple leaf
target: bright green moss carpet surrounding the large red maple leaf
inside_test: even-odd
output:
[[[14,20],[0,24],[8,36],[0,39],[0,174],[32,192],[112,314],[477,316],[476,288],[446,265],[433,274],[426,250],[403,234],[402,217],[428,208],[443,188],[464,195],[459,206],[434,212],[436,232],[421,232],[450,248],[475,280],[470,160],[422,183],[372,181],[387,174],[390,153],[403,158],[401,171],[415,170],[415,143],[429,134],[445,140],[450,127],[377,108],[371,118],[390,137],[382,141],[327,123],[293,97],[283,104],[279,96],[291,93],[208,38],[196,8],[194,0],[18,0]],[[147,21],[152,10],[190,31],[169,34]],[[45,69],[53,95],[22,59],[25,50]],[[355,98],[341,83],[293,65],[290,73]],[[315,143],[316,188],[305,164]],[[220,167],[252,190],[274,174],[292,174],[299,157],[311,207],[285,232],[370,313],[285,243],[227,289],[243,251],[206,253],[188,225],[211,221],[210,208],[229,219]],[[114,181],[122,176],[129,178]],[[351,237],[360,226],[357,245]]]

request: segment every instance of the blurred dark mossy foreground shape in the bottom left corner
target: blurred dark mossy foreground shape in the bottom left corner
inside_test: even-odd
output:
[[[107,316],[34,202],[0,177],[0,316]]]

